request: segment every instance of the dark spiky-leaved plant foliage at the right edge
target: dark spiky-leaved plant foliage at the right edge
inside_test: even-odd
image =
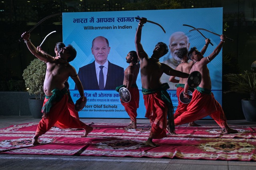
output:
[[[244,71],[243,74],[225,74],[224,78],[230,83],[231,92],[250,94],[250,100],[256,100],[256,73]]]

